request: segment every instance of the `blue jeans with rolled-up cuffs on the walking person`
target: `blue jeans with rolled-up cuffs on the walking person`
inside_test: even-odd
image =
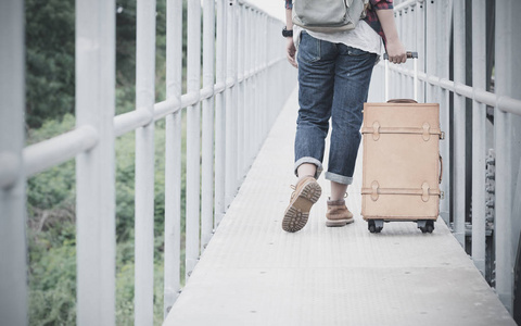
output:
[[[343,43],[301,35],[298,62],[298,118],[295,136],[295,174],[303,163],[322,172],[325,140],[331,117],[331,143],[326,179],[351,185],[360,145],[364,102],[367,101],[376,53]]]

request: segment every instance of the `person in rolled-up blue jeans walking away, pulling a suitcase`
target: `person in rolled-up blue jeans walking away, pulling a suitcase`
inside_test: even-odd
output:
[[[366,17],[355,29],[317,33],[293,26],[292,2],[285,0],[287,25],[282,35],[288,39],[288,60],[298,68],[300,105],[294,165],[297,181],[282,221],[287,231],[302,229],[309,210],[320,198],[321,188],[316,179],[322,172],[330,118],[326,179],[331,181],[331,197],[326,225],[344,226],[354,222],[344,195],[353,183],[372,67],[384,51],[390,62],[404,63],[407,59],[394,22],[393,0],[369,2]]]

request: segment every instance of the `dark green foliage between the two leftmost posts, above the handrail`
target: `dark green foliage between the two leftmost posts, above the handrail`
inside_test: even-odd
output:
[[[74,112],[74,0],[26,0],[26,123]]]

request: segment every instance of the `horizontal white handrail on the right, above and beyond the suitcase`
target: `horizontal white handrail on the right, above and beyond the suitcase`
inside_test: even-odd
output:
[[[407,70],[407,68],[397,67],[397,66],[390,67],[390,68],[403,75],[414,76],[412,70]],[[472,99],[476,102],[495,106],[503,112],[509,112],[517,115],[521,115],[521,100],[512,99],[506,96],[497,96],[484,89],[475,89],[471,86],[468,86],[461,83],[455,83],[447,78],[429,76],[425,73],[418,73],[418,79],[427,82],[433,86],[439,86],[443,89],[449,90],[452,92],[463,96],[466,98]]]

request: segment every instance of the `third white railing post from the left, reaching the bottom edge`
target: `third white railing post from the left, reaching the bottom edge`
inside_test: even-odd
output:
[[[136,108],[155,102],[155,0],[138,0]],[[154,123],[136,129],[135,324],[151,325],[154,302]]]

